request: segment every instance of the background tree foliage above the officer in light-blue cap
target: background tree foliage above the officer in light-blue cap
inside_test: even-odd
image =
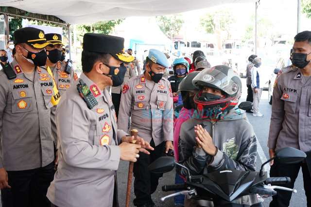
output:
[[[156,16],[156,21],[161,31],[170,39],[178,34],[184,23],[180,15]]]

